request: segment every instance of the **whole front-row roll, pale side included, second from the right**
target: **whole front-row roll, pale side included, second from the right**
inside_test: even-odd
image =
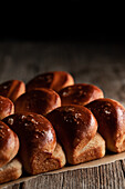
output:
[[[56,131],[69,163],[76,165],[105,155],[105,141],[96,133],[96,119],[85,107],[63,106],[48,113],[46,118]]]

